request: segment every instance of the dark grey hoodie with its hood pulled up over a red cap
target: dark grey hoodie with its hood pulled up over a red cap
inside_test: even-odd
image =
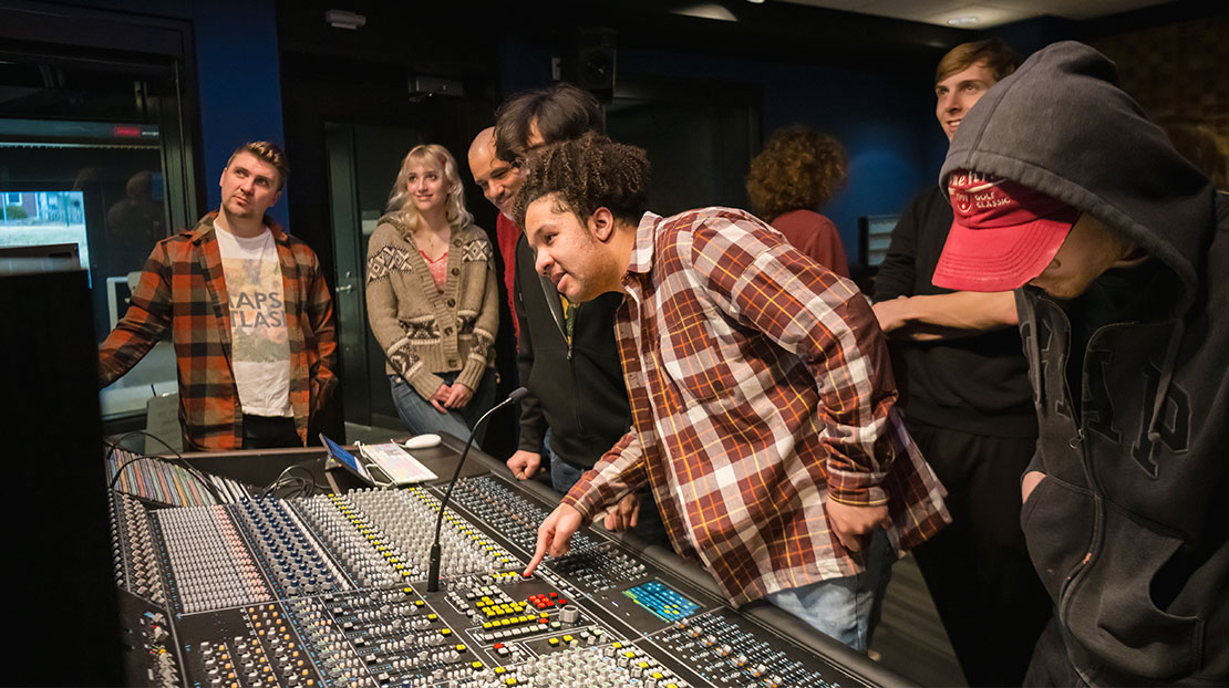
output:
[[[1021,521],[1085,681],[1224,684],[1229,203],[1116,81],[1086,45],[1040,50],[970,111],[940,183],[967,168],[1063,200],[1175,285],[1159,316],[1128,312],[1084,337],[1079,308],[1018,292],[1041,425],[1030,471],[1047,475]],[[1082,370],[1068,376],[1068,361]]]

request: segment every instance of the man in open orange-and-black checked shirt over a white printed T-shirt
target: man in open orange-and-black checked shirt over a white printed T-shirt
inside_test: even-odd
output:
[[[311,415],[337,385],[320,262],[264,215],[289,172],[273,144],[236,149],[221,209],[154,247],[128,313],[100,346],[106,387],[171,329],[186,448],[304,446]]]

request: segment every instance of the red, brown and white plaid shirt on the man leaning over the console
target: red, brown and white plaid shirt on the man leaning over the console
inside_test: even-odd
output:
[[[897,550],[948,521],[853,285],[741,210],[645,214],[616,318],[634,428],[564,498],[651,485],[680,553],[741,604],[860,571],[828,499],[886,504]]]

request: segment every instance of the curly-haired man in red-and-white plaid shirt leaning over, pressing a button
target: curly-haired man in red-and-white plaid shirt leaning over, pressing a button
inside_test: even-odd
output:
[[[543,521],[526,574],[648,482],[732,603],[767,598],[865,650],[891,563],[949,521],[868,301],[745,211],[642,215],[640,149],[590,134],[527,167],[537,270],[571,301],[626,295],[633,429]]]

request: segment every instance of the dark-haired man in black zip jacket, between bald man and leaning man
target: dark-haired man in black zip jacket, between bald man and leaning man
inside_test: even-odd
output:
[[[601,104],[591,93],[565,82],[524,91],[499,108],[497,156],[506,156],[504,162],[521,174],[522,157],[530,150],[591,129],[602,129]],[[521,401],[520,440],[508,468],[517,479],[527,479],[548,450],[551,484],[565,494],[632,425],[614,344],[614,310],[623,299],[608,295],[569,303],[533,272],[533,251],[521,233],[512,302],[520,323],[517,371],[530,394]],[[616,531],[634,528],[651,543],[666,542],[661,517],[646,493],[628,495],[603,525]]]

